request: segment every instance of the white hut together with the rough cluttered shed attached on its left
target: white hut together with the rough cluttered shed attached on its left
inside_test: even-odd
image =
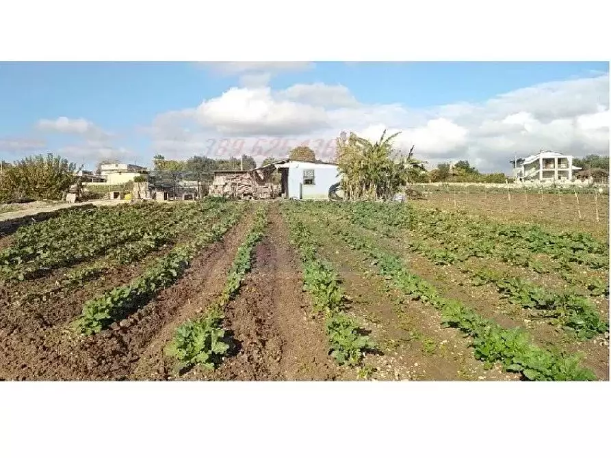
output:
[[[280,174],[279,185],[272,180],[276,171]],[[255,199],[328,200],[330,188],[338,182],[336,164],[285,159],[252,170],[217,170],[209,194]]]

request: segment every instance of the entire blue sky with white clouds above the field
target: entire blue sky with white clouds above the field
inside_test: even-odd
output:
[[[608,62],[0,62],[0,159],[93,168],[197,155],[333,159],[335,138],[482,172],[538,150],[609,154]]]

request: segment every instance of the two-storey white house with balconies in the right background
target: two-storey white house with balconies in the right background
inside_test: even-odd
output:
[[[540,151],[532,156],[510,161],[515,181],[572,181],[573,156],[552,151]]]

